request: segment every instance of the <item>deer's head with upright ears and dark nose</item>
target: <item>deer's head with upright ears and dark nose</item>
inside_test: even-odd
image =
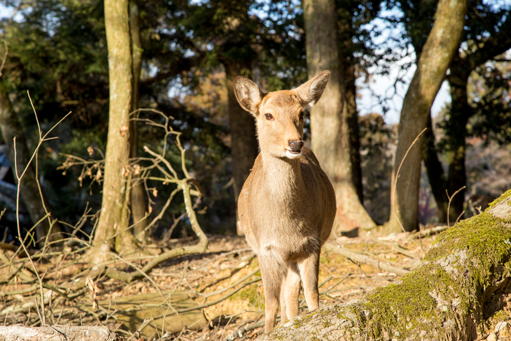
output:
[[[234,93],[241,107],[256,119],[259,146],[263,154],[297,158],[304,146],[305,108],[319,100],[330,78],[330,71],[292,90],[264,94],[250,79],[239,76]]]

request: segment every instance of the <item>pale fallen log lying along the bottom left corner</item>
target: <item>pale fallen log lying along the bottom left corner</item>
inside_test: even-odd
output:
[[[120,338],[107,327],[89,326],[0,326],[0,341],[117,341]]]

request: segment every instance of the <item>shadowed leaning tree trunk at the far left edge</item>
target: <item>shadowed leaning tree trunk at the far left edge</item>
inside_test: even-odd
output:
[[[12,110],[11,103],[3,92],[0,93],[0,130],[2,131],[7,147],[7,156],[9,157],[13,174],[16,174],[13,143],[14,137],[16,138],[17,171],[18,175],[21,175],[25,167],[27,167],[32,154],[27,147],[25,133],[21,129],[21,125]],[[14,175],[14,181],[17,183],[16,175]],[[29,165],[27,172],[21,178],[19,192],[34,224],[46,215],[46,210],[48,210],[48,212],[52,211],[48,202],[44,199],[44,196],[41,197],[39,194],[37,177],[33,164]],[[44,245],[45,236],[50,232],[50,219],[55,219],[55,217],[50,216],[49,218],[43,219],[35,228],[35,236],[41,247]],[[60,232],[60,225],[55,222],[52,226],[48,241],[62,239],[62,234]]]

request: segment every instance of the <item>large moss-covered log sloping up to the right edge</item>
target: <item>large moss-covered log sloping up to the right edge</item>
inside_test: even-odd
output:
[[[477,340],[511,298],[511,190],[436,238],[419,267],[346,303],[296,317],[262,340]],[[499,314],[500,315],[500,314]]]

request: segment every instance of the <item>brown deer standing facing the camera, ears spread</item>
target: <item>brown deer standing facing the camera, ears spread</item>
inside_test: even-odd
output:
[[[238,76],[238,103],[255,118],[260,153],[238,197],[238,227],[258,256],[265,333],[299,313],[300,280],[309,311],[319,307],[319,253],[336,212],[332,184],[304,147],[305,109],[321,97],[330,71],[292,90],[264,94]]]

